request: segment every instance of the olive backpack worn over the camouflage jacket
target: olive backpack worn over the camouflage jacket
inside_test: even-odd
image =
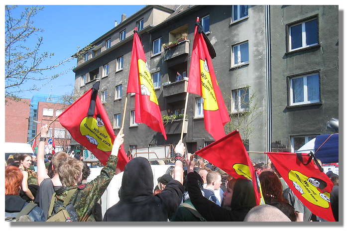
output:
[[[71,189],[67,192],[67,196],[63,200],[63,206],[59,208],[58,212],[55,215],[52,215],[52,211],[54,210],[54,205],[56,201],[56,192],[51,197],[48,219],[46,222],[73,222],[66,210],[67,205],[70,203],[73,194],[77,191],[77,189]]]

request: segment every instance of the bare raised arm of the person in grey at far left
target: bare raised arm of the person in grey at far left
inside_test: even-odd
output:
[[[47,124],[41,127],[41,134],[40,138],[44,137],[46,138],[47,133],[49,131],[49,127]],[[45,162],[44,162],[44,154],[45,154],[45,140],[39,140],[39,145],[38,145],[38,155],[36,157],[36,165],[37,165],[37,175],[38,175],[38,185],[46,179],[50,178],[47,173],[46,173],[46,167],[45,167]]]

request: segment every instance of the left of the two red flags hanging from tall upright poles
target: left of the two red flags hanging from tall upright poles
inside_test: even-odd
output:
[[[151,129],[161,132],[167,140],[152,77],[139,35],[135,30],[127,93],[135,93],[135,122],[145,123]]]

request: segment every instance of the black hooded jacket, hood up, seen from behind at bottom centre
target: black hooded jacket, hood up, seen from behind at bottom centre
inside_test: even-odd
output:
[[[183,185],[171,180],[165,189],[152,195],[153,174],[147,159],[130,160],[123,172],[120,200],[110,207],[103,221],[167,221],[177,210]]]

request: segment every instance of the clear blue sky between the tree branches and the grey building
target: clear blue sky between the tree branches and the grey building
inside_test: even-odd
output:
[[[19,5],[14,13],[18,14],[24,7],[31,5]],[[36,35],[42,36],[44,41],[41,51],[54,53],[46,65],[53,65],[65,60],[75,52],[77,47],[84,48],[90,42],[108,32],[115,26],[115,20],[120,22],[121,14],[127,17],[144,7],[144,5],[39,5],[44,6],[34,18],[34,25],[44,30]],[[28,42],[30,47],[34,46],[36,38]],[[69,71],[57,79],[48,83],[47,81],[36,82],[39,91],[27,91],[20,94],[21,98],[30,99],[35,93],[51,93],[63,95],[71,92],[74,88],[74,68],[77,59],[72,59],[65,66],[55,70]],[[27,83],[30,86],[31,83]]]

